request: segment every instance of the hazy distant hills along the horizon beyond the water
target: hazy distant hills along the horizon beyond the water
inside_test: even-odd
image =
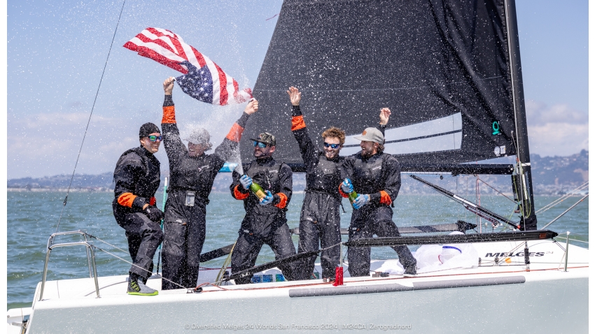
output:
[[[531,168],[533,168],[535,194],[564,194],[589,180],[589,151],[582,150],[580,153],[568,157],[540,157],[538,154],[531,154]],[[163,182],[169,173],[162,174]],[[496,194],[496,191],[483,182],[478,182],[472,175],[459,177],[442,175],[443,179],[437,177],[437,174],[421,176],[451,191],[475,192],[475,185],[479,183],[482,194]],[[499,191],[505,193],[512,191],[508,175],[480,175],[479,178]],[[68,188],[70,180],[71,175],[22,177],[8,180],[7,187],[9,191],[64,191]],[[213,191],[229,191],[230,182],[231,173],[219,173],[214,182]],[[293,184],[294,191],[302,191],[305,187],[304,175],[294,175]],[[113,190],[113,172],[99,175],[76,174],[73,177],[71,189],[74,191],[111,191]],[[433,194],[434,191],[406,175],[402,175],[400,193]]]

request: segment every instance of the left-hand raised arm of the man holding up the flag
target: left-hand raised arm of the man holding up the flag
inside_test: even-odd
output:
[[[186,145],[182,143],[178,124],[176,124],[176,107],[172,99],[172,90],[174,89],[174,77],[169,77],[163,82],[163,92],[165,99],[163,101],[163,118],[161,119],[161,129],[163,131],[163,145],[169,159],[169,170],[173,170],[176,161],[188,152]]]

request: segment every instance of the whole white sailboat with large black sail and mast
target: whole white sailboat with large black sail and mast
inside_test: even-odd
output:
[[[353,136],[376,122],[373,110],[388,106],[394,116],[386,152],[395,154],[402,171],[511,175],[518,221],[417,179],[514,231],[470,233],[468,224],[444,222],[452,226],[342,245],[472,245],[478,259],[467,268],[420,270],[416,277],[346,275],[342,286],[321,279],[235,285],[233,278],[243,273],[223,279],[201,273],[200,281],[208,283],[202,289],[151,298],[128,296],[125,275],[99,276],[91,235],[62,232],[48,241],[46,269],[51,249],[83,246],[90,277],[46,281],[44,270],[32,307],[8,310],[9,331],[587,332],[588,252],[537,229],[514,0],[285,0],[253,89],[263,112],[251,117],[240,147],[248,161],[247,138],[272,132],[276,159],[300,173],[304,167],[284,112],[289,86],[309,96],[302,109],[311,133],[339,126],[349,134],[344,154],[358,150]],[[512,156],[517,164],[466,164]],[[457,229],[465,234],[444,234]],[[80,241],[58,243],[64,235]],[[372,261],[372,268],[394,262]],[[276,264],[248,271],[276,277]],[[160,277],[147,285],[159,289]]]

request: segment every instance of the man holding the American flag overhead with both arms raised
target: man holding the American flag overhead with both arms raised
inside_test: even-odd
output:
[[[173,78],[163,82],[165,101],[161,129],[165,152],[169,159],[170,183],[165,205],[163,241],[163,277],[181,286],[197,284],[200,253],[204,244],[207,204],[215,177],[225,161],[237,152],[241,133],[248,117],[258,110],[258,101],[248,103],[244,113],[232,126],[214,154],[204,154],[211,148],[210,136],[205,129],[195,129],[183,145],[176,124],[172,90]],[[162,289],[180,289],[181,286],[162,280]]]

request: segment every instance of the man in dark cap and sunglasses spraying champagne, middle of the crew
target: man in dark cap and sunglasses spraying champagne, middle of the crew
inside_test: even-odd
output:
[[[230,185],[232,196],[244,201],[246,216],[239,228],[239,237],[232,252],[232,273],[254,266],[262,245],[267,244],[275,259],[295,255],[295,246],[287,226],[285,212],[291,199],[293,187],[291,168],[275,161],[275,138],[270,133],[260,133],[254,140],[254,157],[244,164],[244,175],[233,173]],[[265,190],[266,196],[259,201],[250,190],[252,180]],[[279,266],[287,280],[293,280],[293,263]],[[252,275],[235,279],[236,284],[250,283]]]

